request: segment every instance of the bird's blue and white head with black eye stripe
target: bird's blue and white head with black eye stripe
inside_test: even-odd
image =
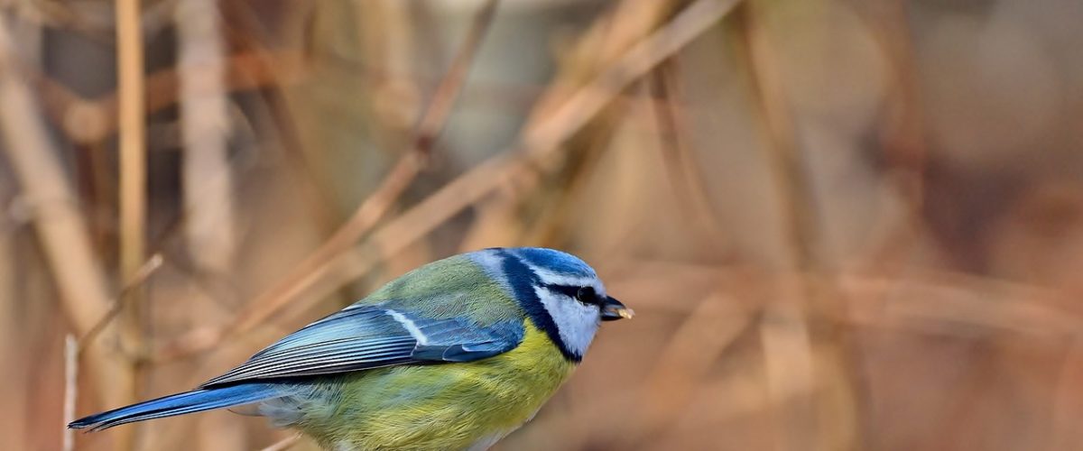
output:
[[[572,360],[583,358],[601,321],[634,314],[605,292],[593,268],[566,252],[508,248],[472,256],[510,289],[534,324]]]

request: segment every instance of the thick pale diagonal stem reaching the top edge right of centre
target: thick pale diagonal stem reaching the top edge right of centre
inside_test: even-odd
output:
[[[306,290],[306,297],[301,301],[300,307],[322,300],[341,284],[367,273],[380,258],[406,249],[494,190],[518,183],[522,174],[533,171],[535,159],[558,152],[558,144],[574,135],[592,118],[579,108],[592,114],[601,111],[621,90],[709,29],[734,4],[736,0],[699,0],[688,6],[670,23],[637,42],[613,66],[577,90],[566,104],[554,109],[552,116],[538,124],[538,129],[547,130],[556,137],[544,137],[547,135],[542,132],[527,131],[522,143],[524,152],[504,152],[490,158],[387,222],[373,231],[362,247],[323,266],[319,274],[313,274],[314,277],[302,288]],[[545,143],[549,143],[549,147],[532,147]],[[199,336],[195,339],[199,340]]]

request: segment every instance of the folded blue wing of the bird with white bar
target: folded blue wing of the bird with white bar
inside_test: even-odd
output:
[[[523,334],[522,321],[481,327],[464,318],[430,319],[386,305],[354,304],[287,335],[200,388],[396,364],[473,361],[513,349]]]

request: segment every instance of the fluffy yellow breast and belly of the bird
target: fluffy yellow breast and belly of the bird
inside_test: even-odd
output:
[[[492,445],[530,420],[575,369],[530,321],[525,331],[517,348],[485,360],[342,376],[302,407],[297,426],[335,450]]]

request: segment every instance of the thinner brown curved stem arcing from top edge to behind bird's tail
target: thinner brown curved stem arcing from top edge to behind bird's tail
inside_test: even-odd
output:
[[[318,279],[329,262],[350,249],[354,242],[384,216],[399,196],[410,185],[425,160],[429,158],[434,137],[443,129],[451,107],[458,97],[474,55],[496,13],[497,0],[488,0],[478,12],[452,67],[441,80],[432,102],[426,109],[413,147],[384,177],[382,184],[354,211],[338,230],[318,249],[304,258],[274,288],[264,291],[246,304],[236,319],[221,329],[199,329],[188,333],[158,354],[169,360],[191,355],[213,346],[221,337],[246,333],[289,304],[304,288]]]

